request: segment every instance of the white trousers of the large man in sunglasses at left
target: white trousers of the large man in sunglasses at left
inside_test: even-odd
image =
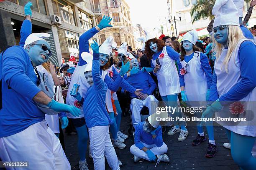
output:
[[[70,170],[59,139],[45,120],[0,138],[0,157],[7,162],[28,162],[28,167],[12,167],[10,170]]]

